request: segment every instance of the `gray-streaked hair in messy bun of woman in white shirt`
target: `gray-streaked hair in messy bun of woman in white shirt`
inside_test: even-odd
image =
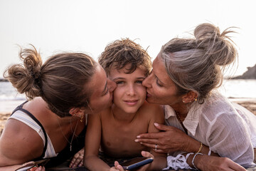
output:
[[[166,71],[182,95],[192,90],[203,103],[213,88],[221,86],[225,66],[238,58],[227,28],[220,33],[213,24],[200,24],[195,38],[173,38],[161,48]]]

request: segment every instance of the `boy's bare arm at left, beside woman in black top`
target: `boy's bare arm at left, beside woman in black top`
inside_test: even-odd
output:
[[[84,165],[87,169],[93,170],[110,170],[107,163],[98,157],[100,141],[102,134],[102,125],[100,113],[88,116],[88,125],[85,135],[85,157]]]

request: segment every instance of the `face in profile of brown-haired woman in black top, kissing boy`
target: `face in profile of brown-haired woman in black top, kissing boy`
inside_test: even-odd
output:
[[[92,76],[92,81],[87,84],[87,90],[92,91],[90,97],[90,108],[85,113],[98,113],[105,108],[112,105],[113,90],[117,85],[107,78],[107,75],[102,68],[98,65],[95,74]]]

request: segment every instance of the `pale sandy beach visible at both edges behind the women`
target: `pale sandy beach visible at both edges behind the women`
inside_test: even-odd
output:
[[[231,101],[242,105],[256,115],[256,99],[244,99],[244,98],[231,98]],[[0,101],[0,136],[6,124],[6,120],[9,118],[11,111],[16,108],[17,105],[23,103],[24,100],[4,100]]]

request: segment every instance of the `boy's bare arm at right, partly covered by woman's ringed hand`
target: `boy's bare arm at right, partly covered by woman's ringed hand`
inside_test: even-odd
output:
[[[156,105],[154,110],[151,110],[151,120],[149,122],[149,133],[157,133],[159,130],[154,126],[154,123],[164,124],[164,108]],[[154,161],[151,163],[149,170],[162,170],[166,167],[166,153],[158,153],[151,149],[151,154],[154,155]]]

